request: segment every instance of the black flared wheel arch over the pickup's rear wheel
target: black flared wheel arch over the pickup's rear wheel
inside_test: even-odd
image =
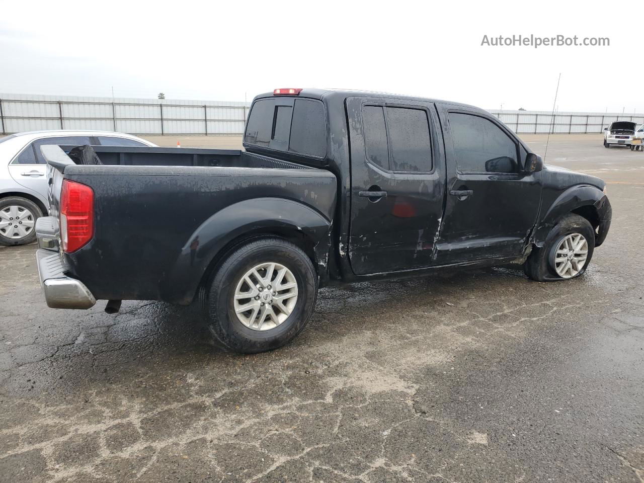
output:
[[[300,232],[316,247],[319,267],[326,267],[331,222],[299,202],[254,198],[230,205],[205,220],[185,242],[172,269],[161,283],[162,299],[188,304],[204,273],[220,251],[252,232]]]

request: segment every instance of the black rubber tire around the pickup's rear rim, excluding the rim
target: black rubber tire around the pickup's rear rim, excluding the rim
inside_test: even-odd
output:
[[[235,314],[234,292],[252,267],[271,262],[292,272],[298,283],[298,299],[291,314],[277,327],[253,330]],[[277,237],[257,238],[226,254],[201,294],[207,325],[218,343],[232,352],[255,354],[285,345],[307,325],[316,305],[317,273],[297,245]]]

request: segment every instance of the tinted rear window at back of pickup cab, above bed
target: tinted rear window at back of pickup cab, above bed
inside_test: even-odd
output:
[[[323,158],[327,121],[319,100],[279,97],[254,102],[244,142],[276,151]]]

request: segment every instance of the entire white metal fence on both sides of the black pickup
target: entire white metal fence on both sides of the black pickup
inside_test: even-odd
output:
[[[132,134],[241,135],[250,104],[0,94],[2,133],[98,129]],[[516,133],[601,133],[612,121],[644,123],[644,114],[492,110]]]

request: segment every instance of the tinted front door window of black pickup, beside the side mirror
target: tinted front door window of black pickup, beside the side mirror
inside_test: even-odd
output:
[[[491,120],[450,113],[451,138],[461,173],[516,173],[516,144]]]

